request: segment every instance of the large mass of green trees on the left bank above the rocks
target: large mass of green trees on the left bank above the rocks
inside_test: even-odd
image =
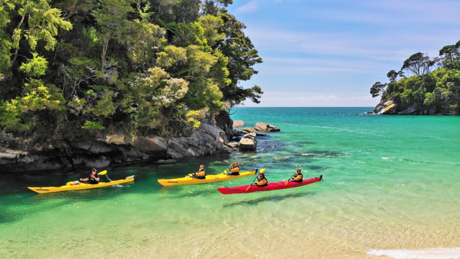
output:
[[[262,59],[231,3],[2,0],[0,128],[170,135],[259,102],[238,85]]]

